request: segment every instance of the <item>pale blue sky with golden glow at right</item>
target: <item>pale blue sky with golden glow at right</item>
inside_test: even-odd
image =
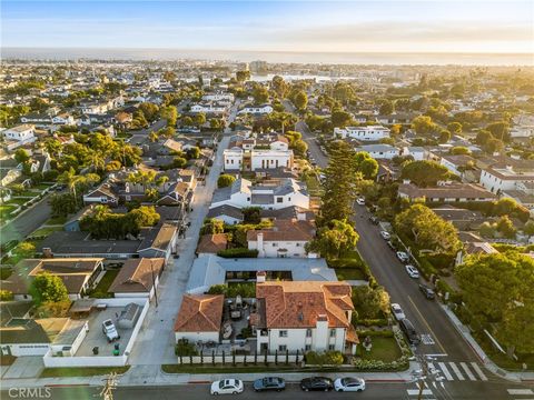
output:
[[[9,1],[1,44],[534,53],[534,1]]]

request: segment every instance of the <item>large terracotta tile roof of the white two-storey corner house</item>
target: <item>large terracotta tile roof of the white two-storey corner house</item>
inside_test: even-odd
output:
[[[284,281],[256,286],[265,299],[266,328],[315,328],[325,318],[330,328],[348,328],[346,311],[354,310],[346,282]]]

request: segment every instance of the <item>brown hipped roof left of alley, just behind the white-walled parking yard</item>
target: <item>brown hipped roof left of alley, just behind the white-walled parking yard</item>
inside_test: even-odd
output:
[[[154,279],[161,273],[165,259],[140,258],[126,260],[113,282],[110,293],[142,293],[152,290]]]

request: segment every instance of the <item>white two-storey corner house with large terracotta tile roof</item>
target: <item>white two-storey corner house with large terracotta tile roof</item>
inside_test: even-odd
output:
[[[257,312],[250,316],[257,351],[356,351],[354,306],[346,282],[265,282],[258,273]]]

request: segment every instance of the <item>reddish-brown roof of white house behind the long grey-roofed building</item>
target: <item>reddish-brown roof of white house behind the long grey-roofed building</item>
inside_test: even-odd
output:
[[[247,241],[257,241],[258,233],[264,234],[264,241],[309,241],[315,237],[315,222],[277,219],[273,229],[249,230]]]

